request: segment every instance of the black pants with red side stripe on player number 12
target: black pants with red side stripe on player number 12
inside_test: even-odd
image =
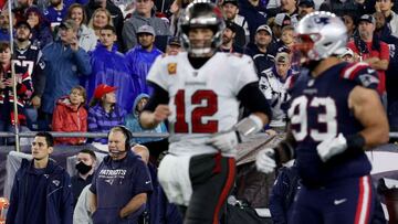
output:
[[[185,224],[218,224],[234,183],[235,160],[217,154],[192,157],[189,163],[192,195]]]

